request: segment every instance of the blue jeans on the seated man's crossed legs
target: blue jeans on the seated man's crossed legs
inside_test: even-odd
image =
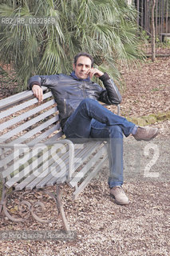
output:
[[[109,187],[121,186],[123,175],[123,134],[132,134],[135,124],[101,106],[97,100],[84,99],[65,122],[67,138],[98,138],[109,141]]]

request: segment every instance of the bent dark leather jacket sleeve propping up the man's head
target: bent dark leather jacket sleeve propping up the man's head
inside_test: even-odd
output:
[[[113,80],[109,78],[109,75],[107,73],[103,74],[100,79],[105,86],[105,90],[101,91],[99,101],[105,102],[109,105],[120,104],[121,94],[117,89],[117,86],[114,84]]]

